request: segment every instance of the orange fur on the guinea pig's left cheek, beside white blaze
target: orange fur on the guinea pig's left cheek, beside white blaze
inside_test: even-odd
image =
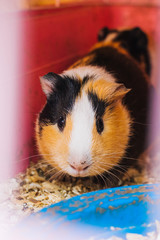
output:
[[[43,158],[53,167],[62,170],[67,167],[68,143],[72,130],[72,121],[70,115],[67,116],[66,126],[61,132],[57,125],[48,124],[43,126],[41,136],[38,133],[39,126],[36,127],[36,138],[39,152]]]

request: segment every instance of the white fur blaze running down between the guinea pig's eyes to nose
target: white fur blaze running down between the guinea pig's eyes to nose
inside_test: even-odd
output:
[[[69,159],[80,163],[82,159],[91,159],[92,129],[94,111],[88,96],[82,96],[75,102],[71,115],[73,128],[69,144]]]

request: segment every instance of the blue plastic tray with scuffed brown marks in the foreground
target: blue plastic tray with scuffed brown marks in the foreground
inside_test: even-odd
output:
[[[160,184],[99,190],[61,201],[32,214],[22,224],[25,239],[126,239],[146,235],[160,221]],[[32,231],[32,234],[31,234]]]

